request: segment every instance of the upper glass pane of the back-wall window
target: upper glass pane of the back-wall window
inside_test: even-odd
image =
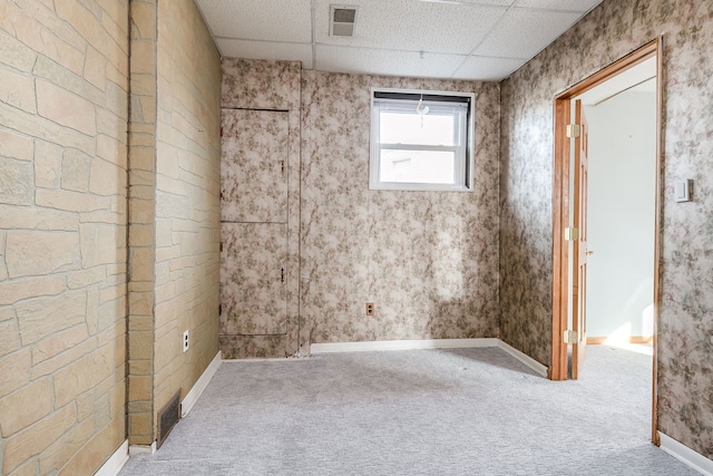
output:
[[[453,146],[456,120],[453,115],[382,111],[380,139],[382,144],[422,144]]]

